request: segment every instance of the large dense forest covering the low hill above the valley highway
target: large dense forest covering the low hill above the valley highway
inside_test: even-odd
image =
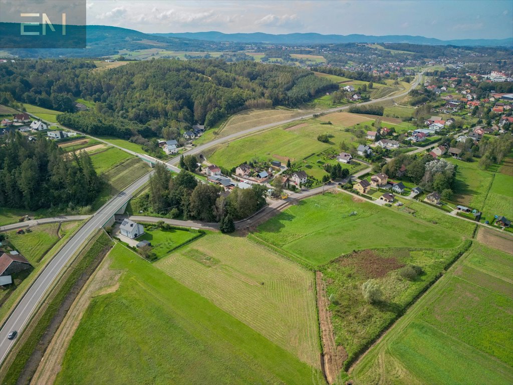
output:
[[[88,133],[123,137],[128,129],[148,137],[173,125],[212,127],[254,105],[295,107],[338,89],[308,70],[246,61],[160,59],[108,71],[93,67],[85,60],[5,63],[0,67],[0,99],[69,112],[74,98],[88,99],[96,103],[94,109],[64,114],[60,123]],[[104,132],[106,125],[111,132]]]

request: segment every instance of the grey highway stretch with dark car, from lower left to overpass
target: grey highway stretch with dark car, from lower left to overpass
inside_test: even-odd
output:
[[[112,198],[96,214],[71,237],[66,246],[57,253],[55,257],[43,269],[40,276],[34,281],[29,290],[25,293],[21,301],[17,304],[12,314],[0,330],[0,363],[2,363],[12,348],[12,345],[19,338],[19,334],[27,326],[30,317],[37,306],[44,299],[48,288],[52,285],[54,279],[60,274],[66,266],[70,258],[82,247],[84,241],[100,228],[114,213],[125,203],[132,194],[144,185],[149,178],[149,174],[145,175],[125,191]],[[12,330],[18,331],[18,336],[14,340],[7,339],[7,335]]]

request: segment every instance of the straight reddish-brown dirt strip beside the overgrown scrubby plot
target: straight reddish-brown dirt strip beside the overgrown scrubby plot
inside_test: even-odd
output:
[[[324,373],[328,383],[332,384],[342,370],[342,365],[347,359],[346,350],[335,343],[331,312],[328,310],[328,298],[326,296],[326,284],[321,272],[315,272],[315,285],[317,285],[317,307],[319,309],[319,324],[324,357]]]

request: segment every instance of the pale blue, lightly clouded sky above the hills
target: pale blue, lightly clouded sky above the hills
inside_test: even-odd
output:
[[[62,6],[84,1],[53,0]],[[11,10],[19,15],[20,5],[26,3],[29,0],[0,0],[2,21],[11,17]],[[58,8],[55,4],[53,9]],[[512,0],[87,0],[86,9],[87,24],[148,33],[318,32],[441,40],[513,37]]]

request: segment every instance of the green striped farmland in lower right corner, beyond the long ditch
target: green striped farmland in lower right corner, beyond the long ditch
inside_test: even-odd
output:
[[[479,243],[357,363],[355,384],[513,381],[513,258]]]

